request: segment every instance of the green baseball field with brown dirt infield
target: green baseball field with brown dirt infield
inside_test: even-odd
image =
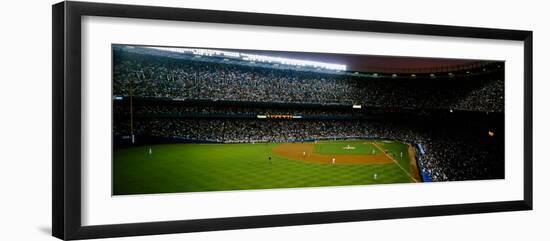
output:
[[[113,195],[417,182],[411,150],[379,140],[124,148]]]

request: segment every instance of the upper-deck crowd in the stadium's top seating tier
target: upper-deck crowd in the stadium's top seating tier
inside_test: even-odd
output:
[[[361,104],[485,112],[504,109],[501,80],[388,80],[292,69],[115,54],[113,93],[228,101]],[[119,56],[119,57],[117,57]]]

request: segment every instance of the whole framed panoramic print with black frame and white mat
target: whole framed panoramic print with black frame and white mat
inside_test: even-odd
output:
[[[61,2],[53,235],[532,209],[532,32]]]

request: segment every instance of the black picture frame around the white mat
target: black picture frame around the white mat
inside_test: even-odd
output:
[[[52,6],[52,233],[65,239],[106,238],[243,228],[532,210],[532,31],[197,10],[89,2]],[[521,200],[421,207],[343,210],[282,215],[82,226],[81,224],[81,17],[104,16],[280,26],[428,36],[516,40],[524,43],[524,194]]]

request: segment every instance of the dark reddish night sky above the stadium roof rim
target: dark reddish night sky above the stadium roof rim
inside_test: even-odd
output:
[[[347,65],[348,71],[380,73],[422,73],[431,72],[433,68],[474,64],[480,60],[441,59],[420,57],[394,57],[377,55],[326,54],[305,52],[279,52],[257,50],[233,50],[251,54],[261,54],[284,58],[295,58]]]

